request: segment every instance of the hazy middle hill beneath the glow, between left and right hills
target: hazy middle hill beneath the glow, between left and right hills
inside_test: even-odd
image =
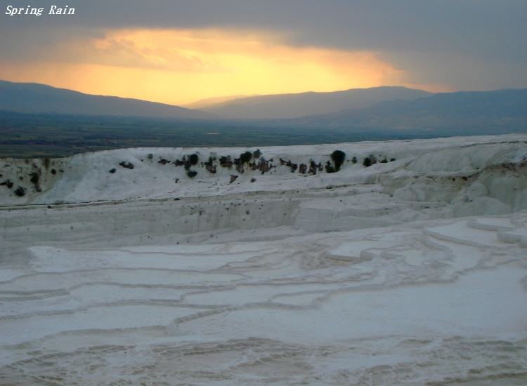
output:
[[[201,107],[226,119],[289,119],[360,109],[385,100],[415,100],[434,95],[405,87],[352,88],[332,93],[258,95]]]

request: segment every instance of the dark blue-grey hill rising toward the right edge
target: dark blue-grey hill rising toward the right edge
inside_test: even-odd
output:
[[[439,93],[416,100],[379,102],[364,109],[278,121],[309,127],[527,131],[527,89]],[[511,131],[512,130],[512,131]],[[487,131],[486,131],[487,132]]]

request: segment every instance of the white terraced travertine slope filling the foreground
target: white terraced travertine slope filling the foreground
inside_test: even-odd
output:
[[[0,385],[527,384],[527,135],[247,150],[0,160]]]

